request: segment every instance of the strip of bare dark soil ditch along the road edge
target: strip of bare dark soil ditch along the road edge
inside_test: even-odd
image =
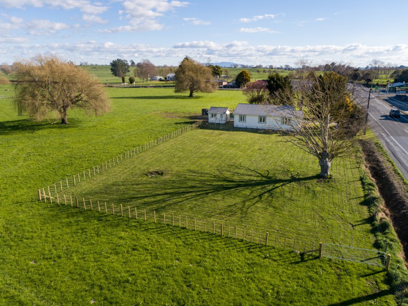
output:
[[[392,165],[380,154],[374,143],[360,140],[371,176],[385,202],[384,212],[391,219],[402,243],[405,258],[408,255],[408,193]]]

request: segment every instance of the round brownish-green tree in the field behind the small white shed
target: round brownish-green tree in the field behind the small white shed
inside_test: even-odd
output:
[[[213,92],[217,83],[213,82],[211,69],[186,56],[175,72],[175,92]]]

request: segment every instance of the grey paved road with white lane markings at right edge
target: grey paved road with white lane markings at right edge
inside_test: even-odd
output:
[[[354,90],[354,97],[367,107],[367,88]],[[388,115],[392,108],[403,111],[400,118]],[[369,126],[408,180],[408,101],[395,94],[380,94],[378,97],[377,93],[371,93]]]

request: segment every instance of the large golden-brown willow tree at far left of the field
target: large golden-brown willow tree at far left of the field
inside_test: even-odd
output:
[[[89,72],[56,57],[37,56],[15,63],[15,99],[18,114],[41,120],[56,112],[68,124],[67,112],[82,108],[96,115],[109,110],[103,86]]]

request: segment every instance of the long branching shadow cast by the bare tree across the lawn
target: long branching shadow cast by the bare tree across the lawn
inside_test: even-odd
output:
[[[286,177],[280,179],[273,176],[269,170],[261,172],[244,167],[236,169],[219,172],[165,173],[165,176],[171,176],[171,180],[154,177],[149,180],[138,180],[136,183],[120,181],[106,186],[106,190],[121,190],[115,194],[115,201],[155,205],[158,211],[179,208],[179,205],[185,202],[197,203],[204,198],[219,200],[239,193],[240,200],[232,206],[235,210],[239,206],[241,213],[247,213],[258,202],[273,197],[276,189],[319,177],[318,175],[300,177],[297,172],[282,170],[281,173]],[[137,194],[138,190],[143,192]],[[226,215],[231,213],[230,207],[221,212],[219,208],[217,209],[219,213]]]

